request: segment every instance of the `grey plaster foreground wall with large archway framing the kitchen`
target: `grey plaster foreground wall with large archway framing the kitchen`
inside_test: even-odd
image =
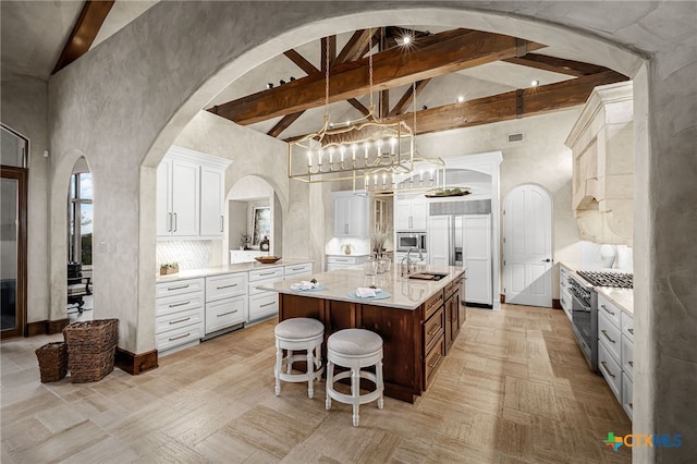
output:
[[[95,235],[107,249],[96,272],[110,281],[96,289],[95,317],[119,317],[120,345],[154,347],[155,170],[167,148],[206,101],[246,70],[288,48],[343,30],[384,24],[440,24],[511,34],[588,53],[588,60],[634,75],[648,59],[649,91],[647,215],[648,270],[636,279],[649,286],[637,317],[653,313],[657,323],[637,332],[648,353],[645,378],[662,382],[648,406],[638,405],[637,432],[694,434],[697,416],[696,290],[686,283],[697,271],[694,230],[695,102],[697,80],[695,2],[160,2],[119,34],[51,78],[51,147],[62,179],[77,152],[88,154],[95,174]],[[205,50],[205,52],[201,52]],[[94,162],[90,159],[94,158]],[[74,161],[74,159],[73,159]],[[72,163],[71,163],[72,166]],[[269,167],[269,169],[273,169]],[[56,179],[56,178],[53,178]],[[51,190],[51,277],[64,282],[64,236],[57,225],[60,204]],[[314,197],[314,195],[313,195]],[[313,227],[316,202],[308,187],[292,184],[288,210],[298,225]],[[322,218],[323,221],[323,218]],[[64,220],[63,220],[64,222]],[[321,222],[320,222],[321,223]],[[291,241],[297,249],[308,244]],[[60,264],[60,265],[59,265]],[[140,269],[148,270],[147,273]],[[52,303],[53,304],[53,303]],[[678,337],[676,337],[676,333]],[[653,364],[651,364],[653,363]],[[676,378],[678,381],[673,380]],[[670,386],[687,386],[680,392]],[[638,387],[638,386],[637,386]],[[690,438],[694,438],[690,437]],[[692,443],[697,441],[693,440]],[[636,448],[639,462],[686,462],[694,447]]]

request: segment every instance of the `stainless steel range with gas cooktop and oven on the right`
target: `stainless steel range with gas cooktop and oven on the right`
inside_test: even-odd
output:
[[[572,329],[590,368],[598,371],[598,293],[594,286],[633,288],[634,276],[623,272],[577,271],[568,276]]]

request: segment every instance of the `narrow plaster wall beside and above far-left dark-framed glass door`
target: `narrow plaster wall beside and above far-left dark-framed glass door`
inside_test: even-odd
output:
[[[27,322],[49,319],[48,194],[52,157],[48,149],[48,85],[30,77],[2,80],[0,121],[29,139],[27,179]],[[63,195],[63,213],[68,210],[68,190]],[[63,255],[63,266],[68,253]],[[63,312],[63,317],[68,317]]]

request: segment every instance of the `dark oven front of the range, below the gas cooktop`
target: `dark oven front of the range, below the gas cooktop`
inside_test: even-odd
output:
[[[585,280],[568,276],[572,329],[588,366],[598,371],[598,294]]]

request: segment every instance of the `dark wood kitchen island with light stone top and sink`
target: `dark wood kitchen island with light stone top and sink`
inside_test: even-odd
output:
[[[383,340],[384,394],[413,403],[431,383],[465,320],[465,268],[426,266],[439,280],[390,273],[365,276],[362,267],[314,274],[319,289],[291,290],[301,279],[261,286],[279,293],[279,321],[311,317],[325,325],[327,339],[338,330],[362,328]],[[413,277],[413,276],[412,276]],[[302,280],[308,280],[304,278]],[[356,297],[357,288],[375,285],[384,298]],[[353,296],[352,296],[353,295]]]

